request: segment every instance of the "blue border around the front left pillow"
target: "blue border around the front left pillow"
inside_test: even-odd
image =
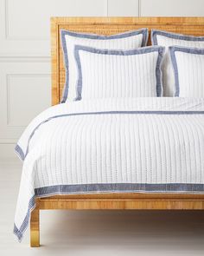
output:
[[[163,84],[162,84],[162,70],[161,63],[163,59],[164,47],[162,46],[149,46],[143,47],[140,49],[96,49],[92,47],[86,47],[82,45],[75,45],[74,48],[74,56],[77,62],[79,77],[77,82],[77,98],[76,101],[81,100],[82,94],[82,71],[81,71],[81,63],[80,63],[80,50],[84,50],[86,52],[90,52],[93,54],[101,54],[101,55],[114,55],[114,56],[132,56],[132,55],[141,55],[147,54],[150,52],[158,52],[157,62],[156,62],[156,95],[157,97],[162,96]]]

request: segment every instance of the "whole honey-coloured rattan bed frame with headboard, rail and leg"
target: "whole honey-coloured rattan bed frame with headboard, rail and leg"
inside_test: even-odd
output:
[[[61,29],[112,35],[140,28],[204,36],[204,17],[52,17],[52,103],[58,104],[65,82]],[[150,36],[149,36],[150,44]],[[48,209],[204,210],[203,194],[79,194],[37,198],[30,219],[30,246],[40,246],[39,212]]]

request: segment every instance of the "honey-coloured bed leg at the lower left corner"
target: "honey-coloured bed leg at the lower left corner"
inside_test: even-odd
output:
[[[39,203],[36,201],[36,207],[31,212],[30,217],[30,246],[40,246],[40,210]]]

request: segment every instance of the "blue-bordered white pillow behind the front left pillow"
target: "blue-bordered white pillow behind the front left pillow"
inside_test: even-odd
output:
[[[76,44],[102,49],[137,49],[146,46],[147,40],[147,29],[129,31],[113,36],[81,34],[61,30],[61,43],[66,66],[66,83],[61,102],[76,98],[77,67],[73,56]]]

